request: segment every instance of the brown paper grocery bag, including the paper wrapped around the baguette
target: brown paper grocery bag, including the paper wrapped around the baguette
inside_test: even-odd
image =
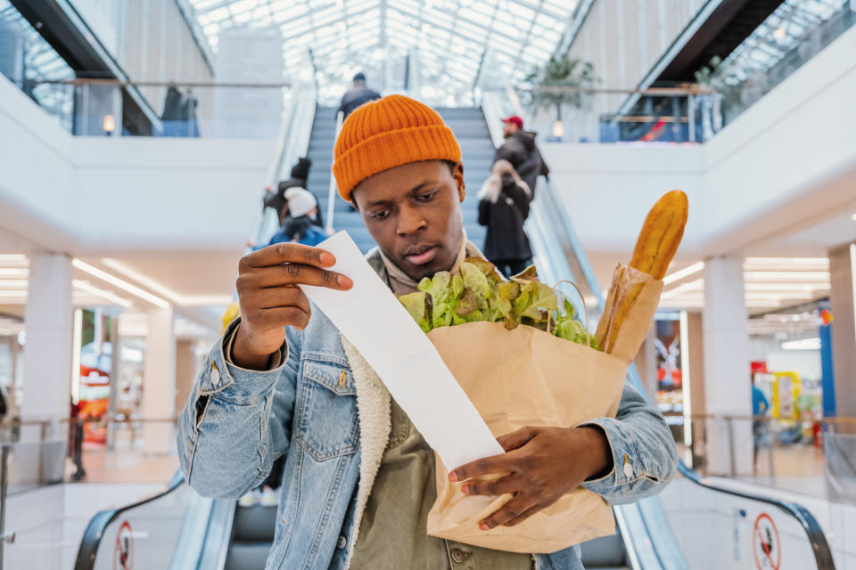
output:
[[[648,281],[643,295],[653,297],[655,310],[662,282]],[[651,306],[651,298],[634,305],[625,325],[629,334],[645,338],[654,318]],[[533,327],[506,330],[495,322],[440,327],[428,338],[494,436],[525,426],[572,427],[614,416],[632,358],[605,354]],[[439,457],[436,463],[437,500],[428,513],[432,536],[538,554],[614,533],[612,508],[582,487],[520,525],[481,531],[479,522],[511,495],[467,496],[460,483],[449,483],[449,468],[458,466],[444,466]]]

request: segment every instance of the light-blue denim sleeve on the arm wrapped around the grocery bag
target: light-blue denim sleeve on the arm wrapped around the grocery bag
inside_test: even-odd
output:
[[[624,382],[615,418],[597,418],[580,426],[601,428],[613,455],[612,470],[583,487],[621,504],[660,493],[678,468],[678,451],[671,430],[644,395]]]

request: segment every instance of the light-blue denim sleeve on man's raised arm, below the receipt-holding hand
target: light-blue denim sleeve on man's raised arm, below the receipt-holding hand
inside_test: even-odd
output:
[[[238,498],[260,485],[291,441],[299,334],[288,329],[276,368],[249,371],[226,359],[239,324],[211,349],[178,419],[181,468],[206,497]]]

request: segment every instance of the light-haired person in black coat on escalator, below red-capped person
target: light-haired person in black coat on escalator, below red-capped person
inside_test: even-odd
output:
[[[488,227],[484,256],[511,277],[532,263],[532,248],[523,231],[532,192],[507,160],[498,160],[479,191],[479,224]]]

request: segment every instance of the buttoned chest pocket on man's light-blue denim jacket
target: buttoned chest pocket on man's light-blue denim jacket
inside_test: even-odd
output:
[[[316,460],[357,451],[357,392],[348,368],[309,355],[302,362],[297,440]]]

